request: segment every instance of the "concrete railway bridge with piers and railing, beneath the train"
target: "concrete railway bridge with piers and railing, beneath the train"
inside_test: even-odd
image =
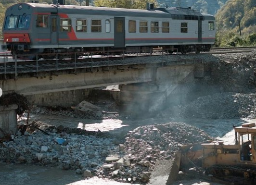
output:
[[[204,75],[204,61],[179,60],[177,55],[94,57],[24,62],[2,56],[0,88],[3,95],[16,92],[41,97],[39,104],[52,102],[55,97],[56,102],[72,105],[79,89],[119,85],[115,98],[123,107],[152,113],[161,109],[167,97],[179,94],[184,84]],[[63,97],[63,92],[72,96],[64,93]],[[16,131],[16,108],[0,107],[0,128],[4,132]]]

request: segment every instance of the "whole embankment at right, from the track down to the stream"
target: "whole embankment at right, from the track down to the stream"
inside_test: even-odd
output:
[[[158,117],[256,118],[256,52],[214,58],[204,63],[205,76],[191,85],[186,99]]]

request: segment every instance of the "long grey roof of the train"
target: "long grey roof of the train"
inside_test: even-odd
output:
[[[173,15],[191,15],[198,17],[211,17],[213,15],[201,13],[190,8],[155,8],[154,10],[141,10],[141,9],[124,9],[124,8],[107,8],[107,7],[93,7],[93,6],[76,6],[76,5],[54,5],[46,3],[18,3],[13,6],[19,6],[20,4],[26,4],[37,11],[46,12],[54,11],[55,9],[60,13],[77,13],[77,14],[95,14],[95,15],[114,15],[114,16],[140,16],[140,17],[163,17],[170,18]],[[12,6],[12,7],[13,7]]]

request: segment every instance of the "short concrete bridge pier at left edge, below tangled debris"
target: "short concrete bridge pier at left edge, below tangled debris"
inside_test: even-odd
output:
[[[0,138],[17,132],[17,108],[16,104],[0,106]]]

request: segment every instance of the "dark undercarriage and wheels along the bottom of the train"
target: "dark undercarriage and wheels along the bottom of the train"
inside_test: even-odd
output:
[[[7,44],[6,49],[11,50],[13,59],[37,60],[43,59],[65,59],[79,58],[85,53],[90,54],[123,54],[123,53],[153,53],[154,49],[162,49],[169,54],[189,52],[200,53],[201,51],[210,51],[211,45],[175,45],[175,46],[133,46],[126,48],[114,47],[95,47],[95,48],[47,48],[47,49],[31,49],[25,43]]]

